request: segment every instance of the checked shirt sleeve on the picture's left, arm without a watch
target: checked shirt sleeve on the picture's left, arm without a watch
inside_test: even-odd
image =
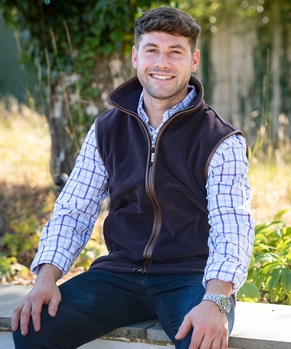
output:
[[[91,236],[107,193],[108,174],[96,147],[92,125],[52,216],[42,230],[32,272],[37,275],[42,263],[58,267],[62,277],[71,269]]]

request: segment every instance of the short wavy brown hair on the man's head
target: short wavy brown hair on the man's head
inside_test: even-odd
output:
[[[188,13],[173,7],[159,7],[141,13],[134,23],[134,40],[138,49],[140,36],[152,31],[189,38],[192,54],[198,44],[201,28]]]

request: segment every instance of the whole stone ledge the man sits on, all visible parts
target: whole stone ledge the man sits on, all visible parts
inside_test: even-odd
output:
[[[12,311],[20,304],[30,289],[31,287],[29,286],[0,285],[0,328],[2,328],[0,337],[1,334],[3,337],[9,335],[7,331],[11,331],[10,320]],[[229,339],[229,348],[290,349],[290,328],[291,307],[289,305],[237,302],[235,323]],[[108,344],[105,345],[104,340]],[[116,342],[116,344],[113,342]],[[159,348],[165,346],[174,347],[169,337],[163,331],[158,319],[152,319],[117,328],[101,339],[91,342],[90,346],[88,344],[88,346],[80,348],[113,348],[114,345],[116,348],[119,348],[118,342],[120,346],[123,346],[121,342],[124,342],[124,345],[128,343],[132,348],[139,345],[140,349],[145,346],[150,349],[158,344]]]

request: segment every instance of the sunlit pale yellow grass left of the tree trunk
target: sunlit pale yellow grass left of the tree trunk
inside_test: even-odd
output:
[[[10,97],[0,101],[0,182],[48,186],[51,138],[44,116],[18,105]]]

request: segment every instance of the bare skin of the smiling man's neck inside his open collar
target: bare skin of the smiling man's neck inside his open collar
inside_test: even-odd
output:
[[[176,95],[168,99],[158,99],[150,96],[144,89],[144,111],[148,117],[148,124],[154,129],[157,129],[163,120],[163,113],[177,105],[179,102],[187,96],[188,86],[185,90],[181,91],[179,95]]]

